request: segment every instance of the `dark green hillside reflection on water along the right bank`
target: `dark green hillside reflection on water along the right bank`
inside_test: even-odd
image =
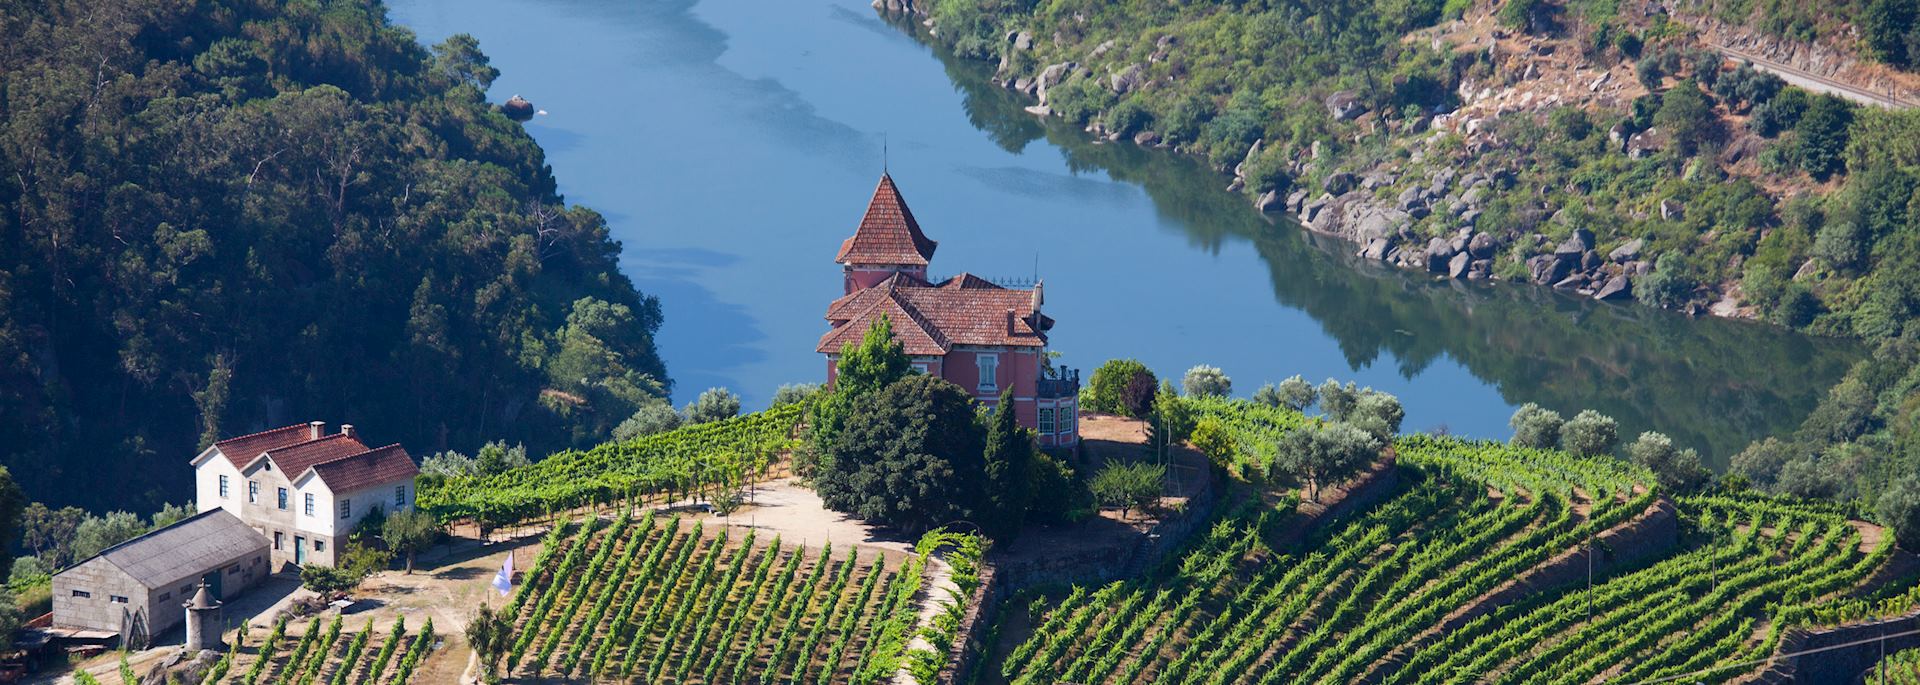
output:
[[[1661,430],[1724,468],[1757,436],[1797,426],[1860,355],[1851,342],[1753,322],[1523,284],[1432,280],[1363,261],[1346,242],[1252,211],[1198,159],[1096,142],[1058,119],[1041,121],[987,79],[987,65],[931,52],[964,92],[968,119],[1000,148],[1020,152],[1044,140],[1071,169],[1139,184],[1198,249],[1252,242],[1275,301],[1311,315],[1352,368],[1384,359],[1411,380],[1452,359],[1507,403],[1534,401],[1569,416],[1597,409],[1620,420],[1622,436]]]

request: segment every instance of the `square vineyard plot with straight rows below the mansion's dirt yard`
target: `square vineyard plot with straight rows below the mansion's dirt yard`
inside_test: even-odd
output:
[[[505,610],[507,672],[641,683],[872,683],[912,626],[920,560],[645,516],[555,528]]]

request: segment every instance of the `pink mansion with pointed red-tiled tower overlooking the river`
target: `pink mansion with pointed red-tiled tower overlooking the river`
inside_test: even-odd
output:
[[[1041,434],[1043,447],[1079,443],[1079,372],[1046,361],[1054,320],[1041,313],[1043,284],[1004,288],[968,272],[933,282],[927,261],[935,248],[893,177],[881,175],[860,226],[833,259],[845,272],[845,294],[828,305],[833,328],[814,347],[828,357],[828,382],[841,347],[887,317],[920,372],[947,378],[989,407],[1012,390],[1014,416]]]

